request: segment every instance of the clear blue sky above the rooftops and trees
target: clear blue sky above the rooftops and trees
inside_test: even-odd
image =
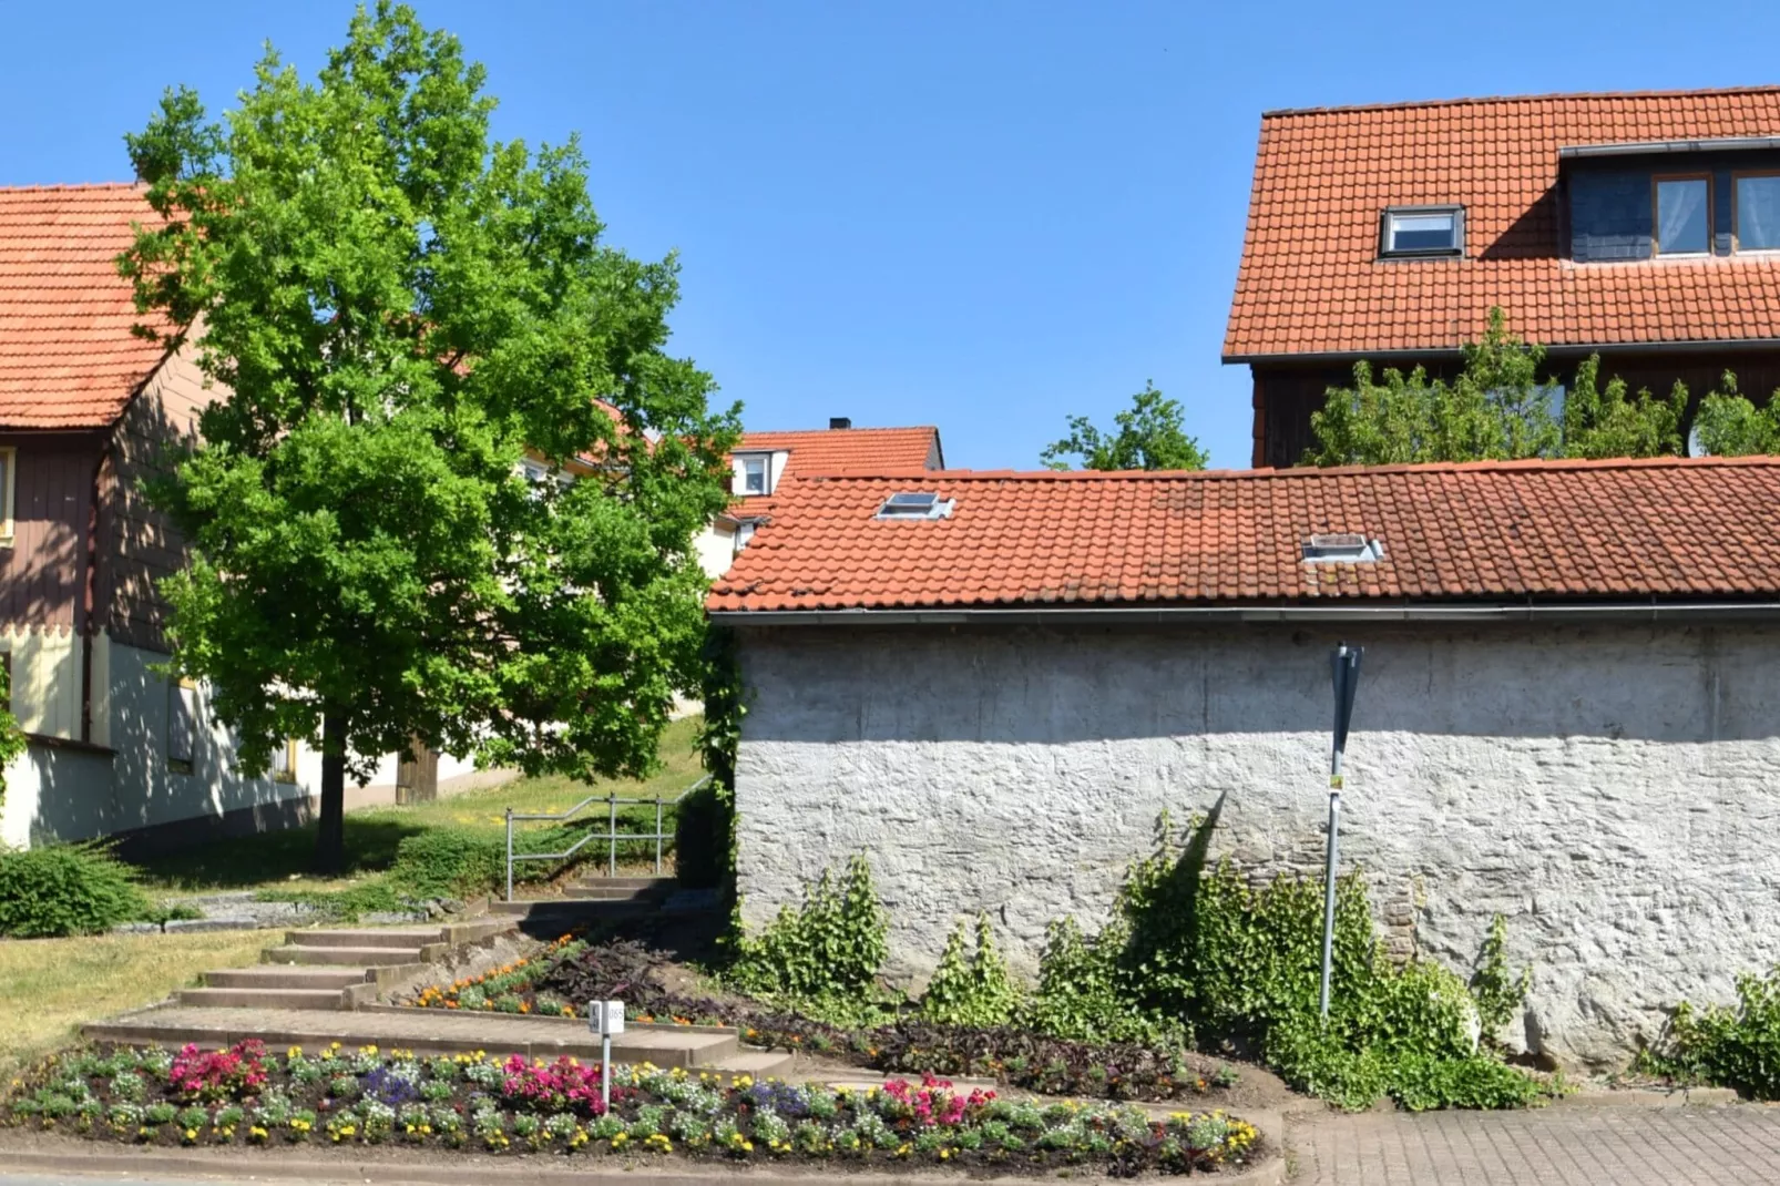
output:
[[[1244,467],[1218,361],[1260,112],[1776,82],[1780,5],[457,4],[497,132],[584,137],[611,242],[678,249],[675,347],[749,427],[938,424],[1032,467],[1153,379]],[[0,7],[0,183],[128,180],[162,87],[212,110],[271,39],[304,73],[349,4]]]

